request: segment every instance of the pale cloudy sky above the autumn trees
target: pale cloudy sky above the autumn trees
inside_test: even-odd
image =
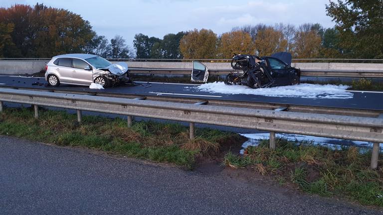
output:
[[[1,7],[36,0],[0,0]],[[167,33],[207,28],[216,34],[246,24],[321,23],[332,27],[326,16],[329,0],[39,0],[65,8],[90,21],[98,35],[123,36],[132,44],[136,33],[163,38]]]

